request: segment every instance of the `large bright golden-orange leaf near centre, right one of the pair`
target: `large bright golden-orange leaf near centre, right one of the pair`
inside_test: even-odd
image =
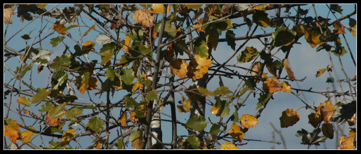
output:
[[[213,61],[201,57],[199,55],[192,58],[187,69],[187,76],[193,80],[200,79],[205,73],[208,72],[208,67],[213,63]]]

